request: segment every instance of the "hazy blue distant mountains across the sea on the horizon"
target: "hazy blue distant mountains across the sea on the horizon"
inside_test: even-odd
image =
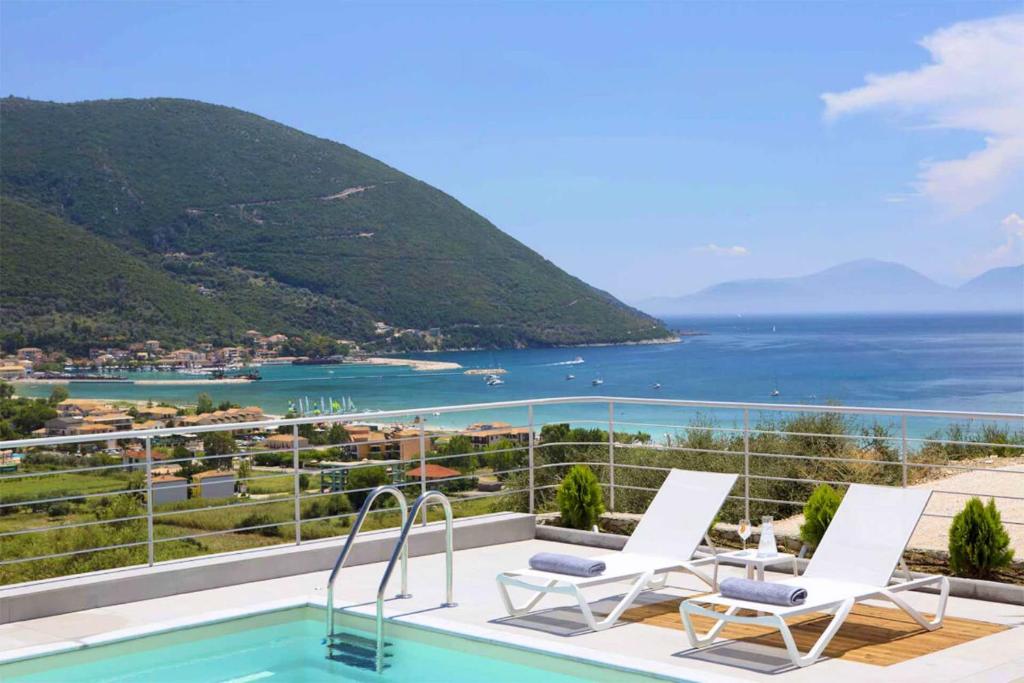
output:
[[[810,275],[736,280],[637,305],[654,315],[1024,311],[1024,265],[993,268],[952,288],[899,263],[862,259]]]

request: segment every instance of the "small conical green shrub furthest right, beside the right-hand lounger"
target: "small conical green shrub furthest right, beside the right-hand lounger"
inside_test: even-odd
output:
[[[1010,564],[1014,551],[995,501],[972,498],[949,526],[949,568],[957,577],[986,579]]]

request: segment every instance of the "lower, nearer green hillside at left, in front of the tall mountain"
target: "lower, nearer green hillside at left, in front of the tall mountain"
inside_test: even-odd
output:
[[[247,329],[159,268],[85,229],[0,198],[3,330],[12,342],[68,348],[78,336],[112,342],[152,335],[231,338]]]

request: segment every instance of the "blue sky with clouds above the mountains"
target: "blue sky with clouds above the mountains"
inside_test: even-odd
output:
[[[863,257],[957,284],[1024,260],[1022,12],[5,0],[0,92],[255,112],[631,301]]]

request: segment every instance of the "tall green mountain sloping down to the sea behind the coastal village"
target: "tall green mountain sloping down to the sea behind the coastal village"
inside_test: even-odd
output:
[[[181,99],[6,98],[0,127],[3,195],[52,214],[66,229],[85,228],[97,249],[130,254],[132,267],[148,273],[138,282],[140,300],[202,303],[182,305],[207,323],[172,326],[187,341],[233,338],[248,328],[372,341],[378,321],[438,328],[446,347],[668,335],[656,319],[567,274],[444,193],[252,114]],[[7,216],[0,219],[6,238]],[[78,269],[54,270],[53,248],[38,243],[25,267],[34,281],[65,280],[65,308],[57,300],[48,308],[49,299],[27,292],[20,279],[0,281],[5,313],[26,339],[44,338],[55,315],[97,313],[73,295]],[[9,262],[3,254],[5,269]],[[153,291],[170,284],[176,287],[167,292],[182,294]],[[161,338],[156,318],[129,322],[131,312],[123,314],[131,336]],[[118,317],[111,311],[97,323]]]

